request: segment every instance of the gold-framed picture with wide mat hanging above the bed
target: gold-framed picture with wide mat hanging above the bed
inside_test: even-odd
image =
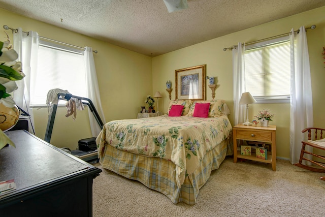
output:
[[[175,70],[175,99],[205,100],[205,71],[206,65]]]

